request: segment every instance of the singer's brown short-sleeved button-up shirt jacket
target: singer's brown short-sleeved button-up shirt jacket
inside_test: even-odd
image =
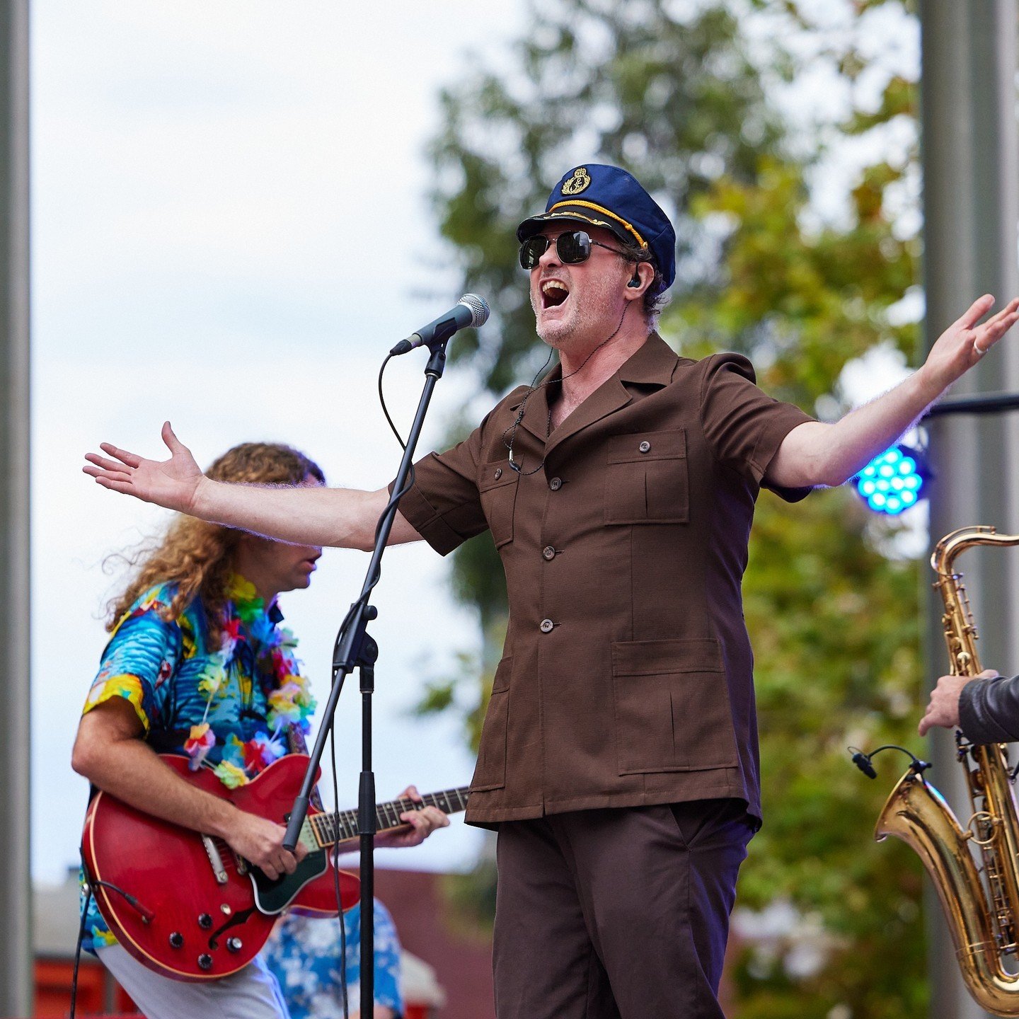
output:
[[[404,516],[442,554],[489,528],[506,575],[469,821],[711,797],[760,815],[740,584],[764,472],[812,419],[753,379],[652,333],[551,435],[548,387],[530,396],[513,446],[536,473],[505,444],[526,387],[416,465]]]

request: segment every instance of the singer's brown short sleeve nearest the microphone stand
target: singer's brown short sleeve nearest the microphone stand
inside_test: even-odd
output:
[[[440,555],[488,529],[477,481],[483,427],[451,449],[419,460],[414,485],[399,500],[399,512]]]

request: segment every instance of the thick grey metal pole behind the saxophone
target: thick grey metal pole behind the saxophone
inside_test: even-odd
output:
[[[1019,294],[1019,143],[1016,0],[921,0],[921,123],[926,346],[981,293]],[[1019,385],[1019,343],[1007,339],[960,381],[957,396]],[[942,416],[929,423],[935,479],[931,543],[959,527],[1019,530],[1019,421],[1015,415]],[[983,661],[1019,669],[1019,556],[974,550],[966,572]],[[929,592],[929,588],[927,589]],[[946,672],[940,604],[926,601],[926,675]],[[957,813],[970,807],[952,734],[932,741],[932,781]],[[986,1015],[966,993],[952,941],[928,886],[931,1016]]]

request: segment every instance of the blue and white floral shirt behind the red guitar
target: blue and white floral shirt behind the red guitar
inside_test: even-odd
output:
[[[346,933],[346,1000],[361,1003],[361,907],[343,913]],[[262,950],[262,960],[279,980],[290,1019],[342,1019],[339,920],[288,913]],[[375,1004],[401,1015],[399,938],[388,910],[375,900]]]

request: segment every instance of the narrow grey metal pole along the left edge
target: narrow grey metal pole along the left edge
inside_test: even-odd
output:
[[[0,1015],[33,1011],[29,856],[29,3],[0,2]]]

